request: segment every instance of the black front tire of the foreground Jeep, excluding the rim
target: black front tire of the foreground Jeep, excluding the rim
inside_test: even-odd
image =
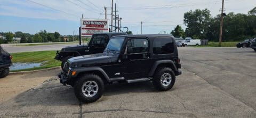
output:
[[[86,97],[82,92],[82,87],[85,82],[94,81],[99,86],[97,94],[92,97]],[[92,103],[97,101],[103,94],[104,83],[102,79],[96,74],[84,74],[75,82],[74,91],[76,97],[84,103]]]

